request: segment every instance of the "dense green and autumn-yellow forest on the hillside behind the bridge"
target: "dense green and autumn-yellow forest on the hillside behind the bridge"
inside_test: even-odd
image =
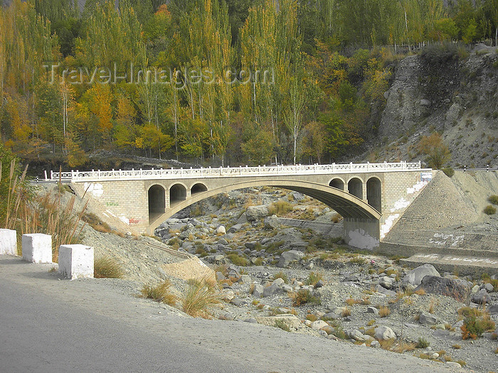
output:
[[[6,148],[70,167],[102,149],[334,161],[376,136],[396,60],[427,44],[496,45],[498,33],[498,0],[118,3],[0,7]]]

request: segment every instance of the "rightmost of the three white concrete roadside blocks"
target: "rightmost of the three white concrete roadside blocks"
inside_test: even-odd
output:
[[[68,279],[93,278],[93,247],[60,245],[59,273]]]

